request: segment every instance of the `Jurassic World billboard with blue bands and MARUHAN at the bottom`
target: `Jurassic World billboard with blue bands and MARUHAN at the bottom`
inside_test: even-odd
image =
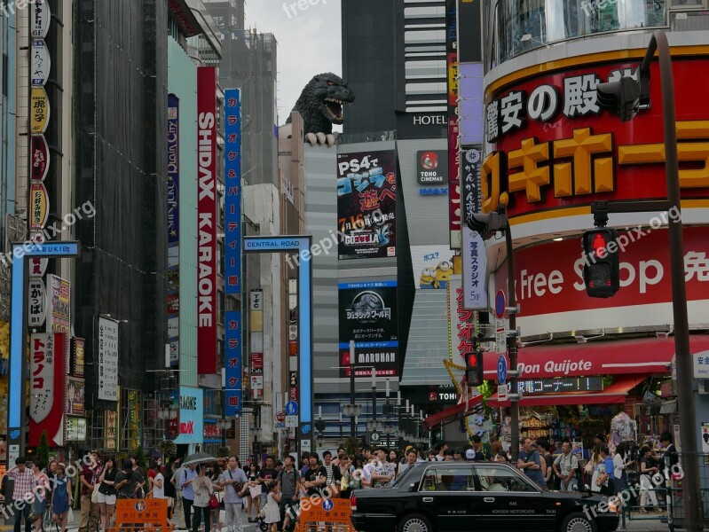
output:
[[[340,377],[398,376],[397,282],[341,283]],[[355,360],[350,356],[355,340]]]

